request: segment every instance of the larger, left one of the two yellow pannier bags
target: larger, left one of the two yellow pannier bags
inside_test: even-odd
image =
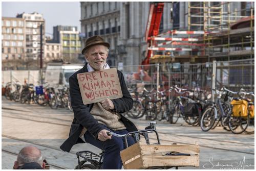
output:
[[[247,101],[245,100],[239,100],[239,101],[236,101],[236,100],[232,100],[230,102],[231,105],[233,105],[233,109],[232,109],[232,116],[235,116],[235,117],[239,117],[239,116],[247,116],[248,113],[247,113],[247,107],[248,107],[248,103]]]

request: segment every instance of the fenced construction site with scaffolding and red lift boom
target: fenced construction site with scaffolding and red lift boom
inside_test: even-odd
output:
[[[144,74],[135,74],[136,82],[160,89],[176,84],[254,90],[254,3],[242,3],[241,10],[231,12],[232,3],[188,2],[188,29],[160,34],[157,21],[163,5],[155,4],[145,34],[147,56],[139,66]]]

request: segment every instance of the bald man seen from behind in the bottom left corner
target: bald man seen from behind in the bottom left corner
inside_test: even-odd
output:
[[[34,146],[25,146],[14,162],[14,169],[44,169],[46,163],[43,161],[41,151]]]

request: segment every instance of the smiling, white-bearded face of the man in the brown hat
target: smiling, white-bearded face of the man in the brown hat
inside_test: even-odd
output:
[[[104,45],[94,45],[86,53],[86,59],[94,70],[103,69],[107,57],[107,47]]]

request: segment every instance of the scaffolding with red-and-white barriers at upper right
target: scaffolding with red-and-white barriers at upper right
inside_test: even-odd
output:
[[[148,38],[156,42],[148,48],[153,50],[151,63],[254,58],[254,2],[186,3],[187,29]],[[234,27],[245,21],[249,23],[247,27]]]

